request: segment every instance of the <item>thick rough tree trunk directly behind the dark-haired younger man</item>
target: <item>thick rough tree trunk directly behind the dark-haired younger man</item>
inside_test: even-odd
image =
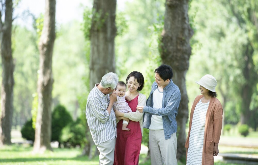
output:
[[[178,116],[177,158],[185,158],[185,125],[188,119],[188,96],[186,91],[186,72],[189,68],[191,46],[189,43],[193,31],[189,26],[188,0],[166,0],[164,29],[159,44],[160,56],[164,64],[173,68],[173,82],[181,92]]]

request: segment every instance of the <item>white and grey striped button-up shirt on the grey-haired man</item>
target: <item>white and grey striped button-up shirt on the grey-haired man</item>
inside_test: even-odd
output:
[[[96,145],[116,138],[116,116],[112,109],[107,111],[109,95],[103,94],[98,89],[98,84],[94,86],[88,95],[86,105],[86,119],[93,141]]]

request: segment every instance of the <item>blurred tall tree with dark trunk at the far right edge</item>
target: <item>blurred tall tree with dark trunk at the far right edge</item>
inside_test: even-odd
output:
[[[253,57],[258,51],[258,3],[255,0],[243,2],[240,0],[228,0],[230,13],[237,20],[240,29],[247,34],[247,43],[242,45],[241,68],[244,77],[243,83],[240,84],[241,96],[241,124],[250,125],[251,111],[250,103],[253,93],[255,93],[258,83],[258,69],[255,66]]]

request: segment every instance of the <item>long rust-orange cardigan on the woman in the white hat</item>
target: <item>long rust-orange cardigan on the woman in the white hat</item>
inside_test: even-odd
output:
[[[192,118],[193,118],[193,111],[195,110],[196,104],[199,100],[203,97],[203,95],[198,95],[192,105],[191,113],[190,113],[190,122],[189,122],[189,131],[188,137],[186,139],[186,144],[184,147],[189,147],[189,136],[190,130],[192,126]],[[214,158],[214,143],[219,143],[220,135],[221,135],[221,128],[222,128],[222,105],[220,101],[212,97],[208,106],[208,110],[206,113],[206,120],[205,120],[205,130],[204,130],[204,142],[203,142],[203,159],[202,165],[213,165]],[[187,158],[187,152],[186,152]]]

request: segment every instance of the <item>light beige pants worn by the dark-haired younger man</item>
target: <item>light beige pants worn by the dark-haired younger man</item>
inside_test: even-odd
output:
[[[164,130],[150,130],[149,132],[150,160],[153,165],[177,165],[176,133],[170,139],[165,139]]]

